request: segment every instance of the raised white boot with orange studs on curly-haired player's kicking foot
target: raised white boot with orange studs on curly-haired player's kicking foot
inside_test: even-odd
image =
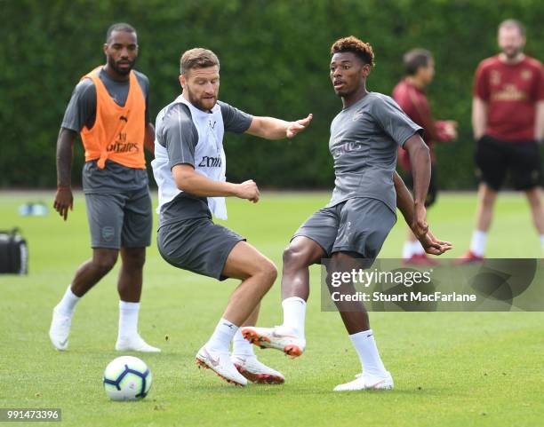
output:
[[[260,348],[275,348],[291,356],[299,357],[306,348],[306,340],[292,333],[291,330],[276,326],[275,328],[242,328],[242,336]]]

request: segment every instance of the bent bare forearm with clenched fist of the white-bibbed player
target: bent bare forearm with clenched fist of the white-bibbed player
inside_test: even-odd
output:
[[[214,181],[196,172],[192,165],[181,163],[172,168],[176,186],[188,194],[198,197],[239,197],[250,202],[259,202],[259,188],[252,179],[242,184]]]

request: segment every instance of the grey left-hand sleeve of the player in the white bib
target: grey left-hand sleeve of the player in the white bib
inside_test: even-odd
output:
[[[195,147],[198,131],[184,106],[177,105],[171,114],[164,117],[162,142],[168,152],[170,169],[176,164],[195,167]]]

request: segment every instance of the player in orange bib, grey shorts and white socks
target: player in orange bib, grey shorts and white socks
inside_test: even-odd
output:
[[[124,23],[112,25],[104,53],[106,65],[76,85],[57,141],[54,208],[66,221],[73,209],[70,175],[78,132],[83,140],[92,258],[79,266],[55,306],[49,336],[58,350],[66,350],[76,304],[112,269],[120,252],[116,350],[160,352],[138,333],[142,270],[153,224],[144,145],[153,150],[154,128],[148,117],[148,77],[132,70],[138,56],[136,30]]]

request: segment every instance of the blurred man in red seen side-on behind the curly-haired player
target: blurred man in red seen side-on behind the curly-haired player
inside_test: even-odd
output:
[[[435,142],[447,142],[457,138],[457,122],[452,120],[435,121],[430,110],[425,89],[433,81],[435,75],[435,61],[430,51],[425,49],[412,49],[404,54],[404,79],[393,90],[393,99],[408,115],[413,123],[419,124],[424,130],[423,140],[430,150],[431,177],[428,186],[425,207],[428,208],[436,202],[438,194],[438,181],[436,179],[436,154]],[[399,148],[399,164],[407,172],[406,182],[412,187],[412,175],[410,174],[410,156],[408,151]],[[407,240],[404,242],[403,259],[405,264],[434,265],[436,261],[427,257],[420,241],[408,228]]]

